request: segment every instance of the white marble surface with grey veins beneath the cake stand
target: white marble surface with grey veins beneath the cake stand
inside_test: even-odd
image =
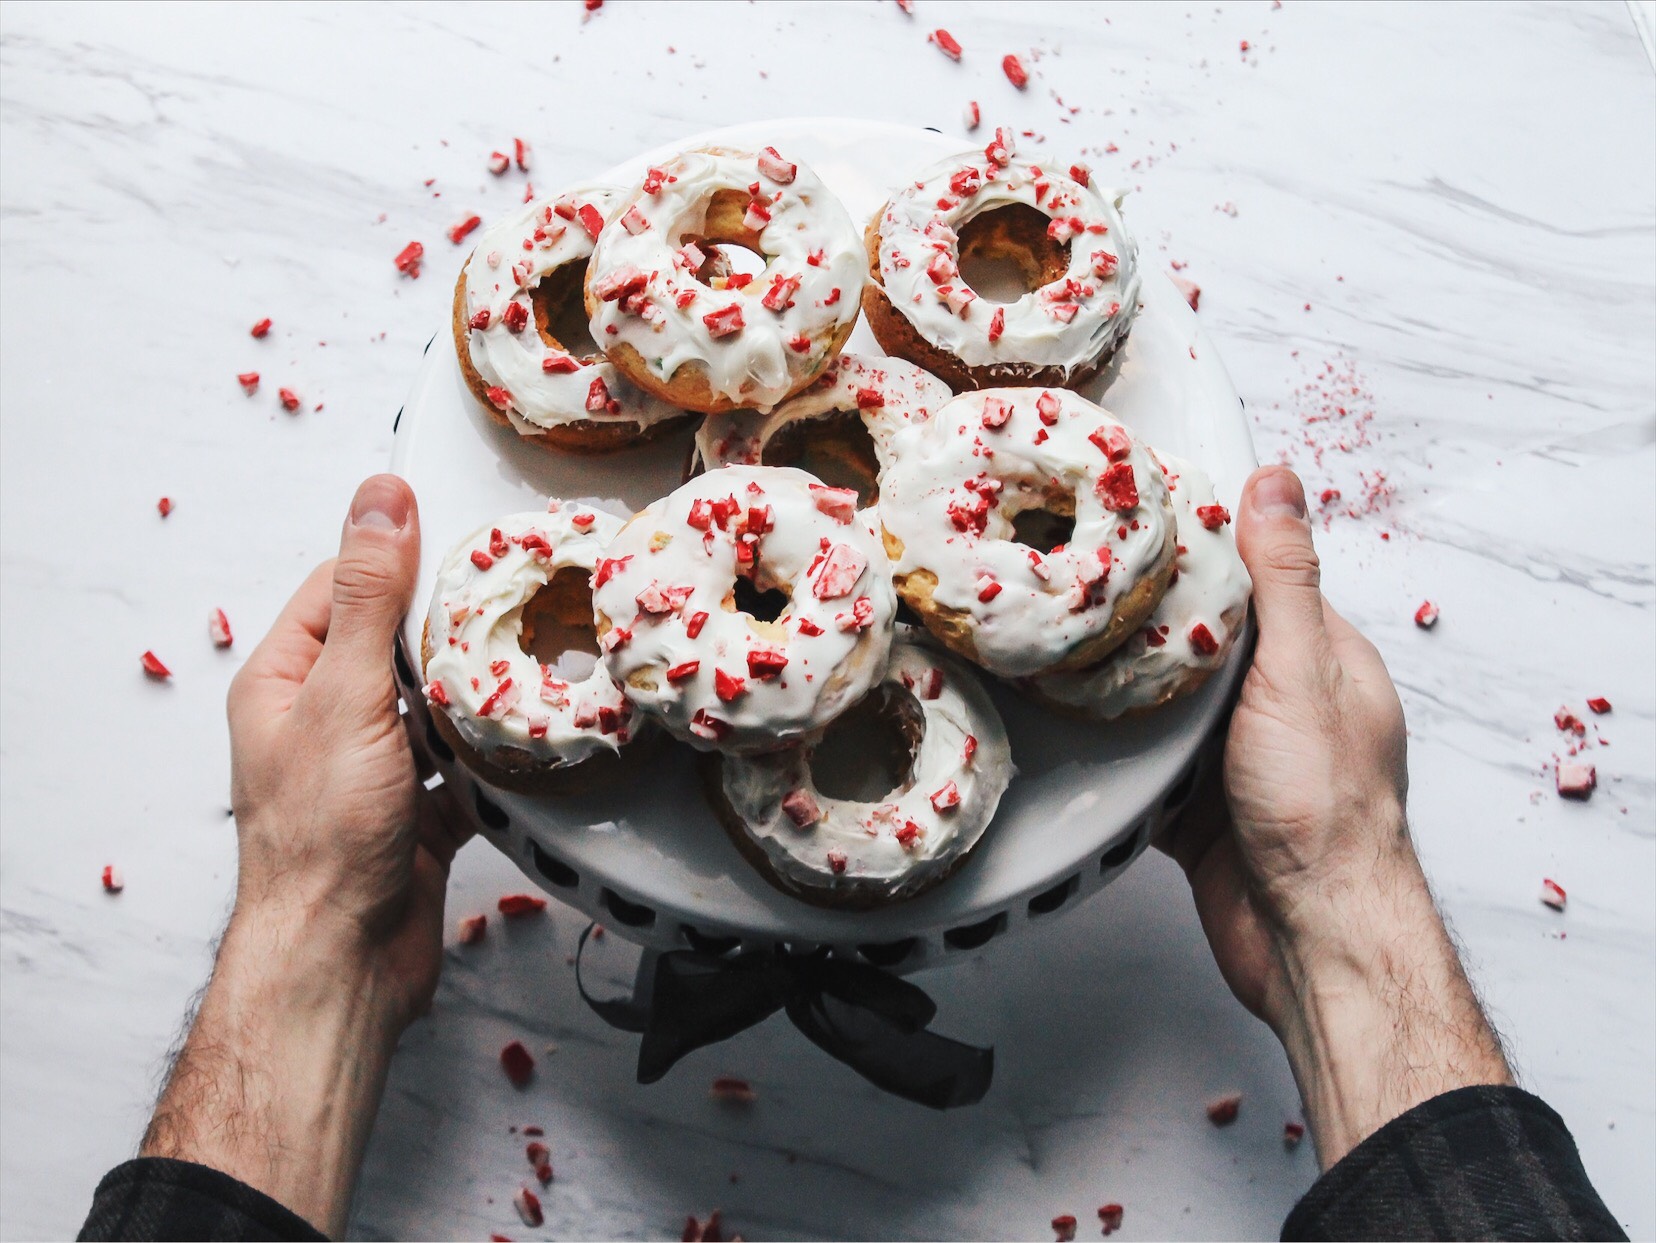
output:
[[[136,1144],[230,894],[225,685],[386,460],[447,313],[442,228],[522,190],[487,152],[528,137],[550,187],[763,114],[959,132],[967,98],[1048,149],[1118,144],[1093,164],[1139,187],[1146,250],[1202,285],[1262,457],[1346,497],[1388,473],[1386,515],[1321,538],[1328,591],[1403,689],[1416,834],[1525,1082],[1628,1230],[1656,1233],[1656,86],[1628,10],[916,8],[0,13],[0,1233],[71,1233]],[[924,43],[936,25],[962,65]],[[1018,96],[999,58],[1032,48]],[[411,238],[419,281],[391,266]],[[1318,465],[1297,389],[1328,361],[1373,420]],[[146,647],[172,685],[144,680]],[[1615,702],[1593,722],[1611,745],[1595,799],[1565,804],[1552,712],[1588,695]],[[1543,876],[1568,914],[1537,902]],[[474,844],[452,909],[518,887]],[[1124,1238],[1267,1236],[1313,1178],[1310,1145],[1278,1142],[1282,1054],[1159,857],[921,977],[941,1029],[997,1046],[994,1092],[951,1116],[881,1097],[780,1020],[634,1086],[633,1038],[575,996],[578,927],[450,953],[392,1071],[358,1233],[525,1236],[507,1127],[527,1122],[550,1134],[558,1236],[677,1236],[714,1205],[749,1238],[1043,1238],[1061,1212],[1095,1236],[1106,1200]],[[626,958],[606,943],[596,975]],[[558,1046],[525,1092],[495,1064],[513,1036]],[[757,1104],[710,1102],[719,1073]],[[1242,1117],[1216,1130],[1202,1102],[1225,1089]]]

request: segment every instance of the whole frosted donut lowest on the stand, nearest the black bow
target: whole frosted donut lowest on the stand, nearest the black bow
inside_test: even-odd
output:
[[[876,753],[881,718],[901,730],[888,745],[899,755]],[[868,773],[863,799],[816,788],[820,746],[840,741]],[[888,760],[894,771],[884,771]],[[705,771],[714,811],[767,881],[820,905],[873,907],[954,872],[1013,770],[1000,715],[965,665],[899,641],[881,684],[828,735],[770,755],[715,756]]]

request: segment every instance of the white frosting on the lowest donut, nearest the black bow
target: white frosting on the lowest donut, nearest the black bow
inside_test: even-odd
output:
[[[720,763],[725,801],[795,885],[883,897],[922,889],[977,844],[1012,781],[1000,715],[962,662],[899,641],[884,680],[919,707],[921,738],[907,783],[878,803],[818,791],[810,743]]]

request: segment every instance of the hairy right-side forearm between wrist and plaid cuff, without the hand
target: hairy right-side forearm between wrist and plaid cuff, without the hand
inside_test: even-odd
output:
[[[1273,1026],[1325,1169],[1441,1092],[1512,1082],[1413,851],[1277,955]]]

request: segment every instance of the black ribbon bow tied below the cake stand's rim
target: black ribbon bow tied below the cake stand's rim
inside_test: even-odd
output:
[[[652,1084],[692,1049],[717,1044],[787,1010],[793,1026],[876,1087],[932,1109],[974,1106],[995,1074],[995,1051],[927,1031],[937,1005],[924,990],[828,950],[646,950],[633,996],[598,1000],[575,985],[604,1023],[641,1031],[638,1081]]]

